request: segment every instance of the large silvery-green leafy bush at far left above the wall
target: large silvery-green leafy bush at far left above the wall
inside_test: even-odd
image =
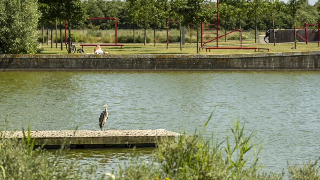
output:
[[[37,0],[0,0],[0,53],[36,53]]]

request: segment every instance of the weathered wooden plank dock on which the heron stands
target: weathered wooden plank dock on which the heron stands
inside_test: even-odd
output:
[[[28,132],[25,132],[26,135]],[[65,139],[70,141],[71,148],[91,147],[133,147],[154,146],[157,141],[168,137],[177,141],[180,134],[164,129],[148,130],[54,130],[30,131],[30,136],[35,138],[35,145],[45,144],[47,148],[59,147]],[[5,137],[23,138],[23,131],[6,131]]]

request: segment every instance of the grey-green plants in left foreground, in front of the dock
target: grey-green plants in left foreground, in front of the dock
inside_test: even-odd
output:
[[[68,142],[50,153],[41,147],[34,147],[30,127],[22,140],[17,137],[4,138],[7,118],[0,129],[0,179],[5,180],[53,180],[53,179],[97,179],[96,166],[80,169],[77,158],[65,157]],[[8,132],[7,132],[8,133]],[[103,179],[102,176],[100,179]]]

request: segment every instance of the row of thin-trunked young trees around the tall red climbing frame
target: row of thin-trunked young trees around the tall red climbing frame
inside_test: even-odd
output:
[[[150,6],[150,4],[152,5]],[[206,21],[208,16],[215,14],[217,11],[220,13],[220,18],[224,20],[225,32],[227,31],[227,20],[230,20],[231,17],[236,18],[239,29],[242,29],[241,25],[245,17],[253,19],[255,42],[257,42],[258,22],[262,19],[263,14],[269,15],[272,20],[273,33],[275,33],[274,17],[278,12],[285,12],[292,18],[291,24],[295,31],[295,19],[301,4],[308,4],[308,1],[289,0],[287,4],[284,4],[279,0],[220,0],[218,9],[212,9],[208,7],[217,7],[217,4],[206,0],[128,0],[127,15],[133,26],[140,25],[145,31],[147,28],[152,28],[154,34],[156,34],[156,28],[163,26],[161,21],[169,18],[177,20],[180,29],[180,49],[182,50],[181,26],[193,22],[197,30],[197,42],[199,42],[198,29],[200,22]],[[154,42],[156,42],[156,35],[154,38]],[[274,45],[276,45],[276,39],[274,39]]]

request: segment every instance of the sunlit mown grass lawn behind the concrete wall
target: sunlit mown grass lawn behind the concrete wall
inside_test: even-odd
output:
[[[102,44],[102,43],[100,43]],[[230,46],[232,44],[237,44],[235,46]],[[76,43],[76,49],[81,48],[80,43]],[[208,47],[215,47],[215,43],[211,43]],[[227,47],[239,47],[240,43],[238,41],[227,41],[219,42],[219,46],[223,47],[223,45],[227,45]],[[291,49],[294,46],[294,43],[285,43],[285,44],[254,44],[254,41],[243,41],[243,47],[263,47],[270,48],[269,52],[292,52],[292,51],[319,51],[318,43],[309,43],[308,45],[305,43],[298,43],[297,49]],[[67,54],[66,45],[63,44],[63,50],[60,51],[60,44],[58,44],[58,49],[55,48],[55,43],[53,44],[53,49],[51,49],[51,45],[44,44],[44,51],[42,54]],[[110,54],[196,54],[196,43],[186,43],[182,45],[182,51],[180,51],[179,43],[170,43],[169,49],[166,49],[166,43],[157,43],[156,47],[154,47],[153,43],[149,43],[147,45],[143,45],[141,43],[136,44],[124,44],[122,49],[120,47],[112,47],[112,46],[101,46],[102,51],[109,52]],[[85,53],[93,53],[94,46],[84,46]],[[200,50],[200,54],[244,54],[244,53],[263,53],[267,52],[267,50],[254,51],[253,49],[245,50],[245,49],[212,49],[211,52],[206,52],[204,50]],[[77,53],[77,52],[76,52]]]

